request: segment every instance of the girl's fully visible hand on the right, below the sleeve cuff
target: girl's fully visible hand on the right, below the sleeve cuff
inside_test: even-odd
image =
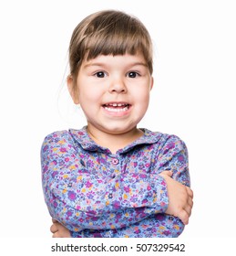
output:
[[[169,206],[166,213],[178,217],[183,224],[187,225],[193,206],[193,192],[190,187],[184,186],[171,178],[172,174],[171,171],[160,173],[160,176],[165,178],[168,189]]]

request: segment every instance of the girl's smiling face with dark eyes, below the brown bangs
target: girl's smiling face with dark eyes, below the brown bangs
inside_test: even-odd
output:
[[[68,79],[72,92],[73,79]],[[104,133],[128,133],[149,106],[153,79],[142,54],[100,55],[84,60],[71,93],[87,117],[87,126]]]

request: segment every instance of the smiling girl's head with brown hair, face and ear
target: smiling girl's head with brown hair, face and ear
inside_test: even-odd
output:
[[[69,46],[68,90],[87,118],[89,130],[136,132],[153,85],[148,30],[119,11],[87,16]]]

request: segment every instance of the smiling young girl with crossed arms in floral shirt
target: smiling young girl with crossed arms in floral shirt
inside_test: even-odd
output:
[[[71,37],[69,64],[68,91],[87,126],[42,145],[53,237],[178,237],[193,205],[187,148],[137,127],[153,86],[146,27],[119,11],[87,16]]]

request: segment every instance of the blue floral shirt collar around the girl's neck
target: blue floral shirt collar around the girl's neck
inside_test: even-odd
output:
[[[139,144],[154,144],[157,143],[162,136],[162,133],[154,133],[149,131],[146,128],[141,128],[144,132],[144,134],[139,137],[136,141],[134,141],[132,144],[128,144],[126,147],[118,150],[118,154],[126,153],[129,150],[131,150],[133,147]],[[88,135],[87,133],[87,126],[84,126],[80,130],[75,130],[75,129],[69,129],[69,133],[73,137],[73,139],[81,145],[81,147],[84,150],[87,151],[100,151],[103,153],[108,153],[110,154],[110,151],[108,148],[102,147],[98,144],[96,144]]]

